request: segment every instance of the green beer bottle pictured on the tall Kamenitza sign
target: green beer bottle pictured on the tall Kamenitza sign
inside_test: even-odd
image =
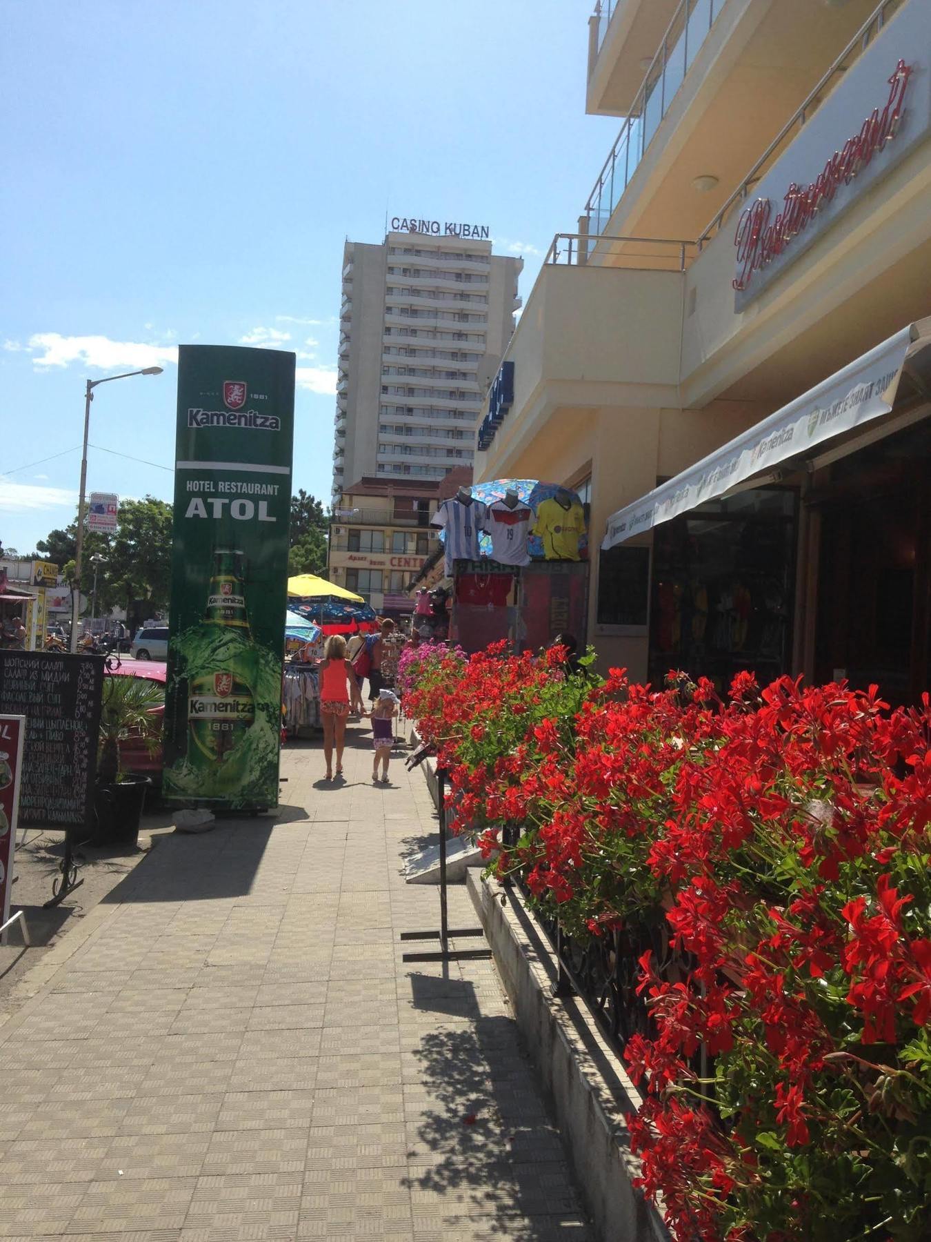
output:
[[[212,658],[206,668],[189,667],[187,689],[187,758],[205,775],[217,770],[256,719],[247,679],[252,633],[243,578],[241,551],[214,551],[207,607],[199,627],[209,638]]]

